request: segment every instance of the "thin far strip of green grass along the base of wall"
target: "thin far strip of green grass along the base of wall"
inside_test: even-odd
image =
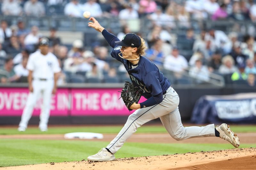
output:
[[[196,125],[197,126],[197,125]],[[200,126],[200,125],[199,125]],[[201,125],[203,126],[203,125]],[[253,125],[231,125],[232,131],[236,133],[256,132]],[[0,127],[0,135],[14,134],[65,134],[71,132],[94,132],[94,133],[118,133],[123,126],[53,126],[47,132],[41,132],[37,127],[28,127],[25,132],[18,132],[17,127]],[[136,133],[167,133],[162,125],[144,125],[138,128]]]

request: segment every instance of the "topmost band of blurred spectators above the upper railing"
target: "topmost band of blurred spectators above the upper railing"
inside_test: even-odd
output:
[[[148,14],[164,24],[178,19],[212,20],[232,18],[256,21],[254,0],[1,0],[1,12],[14,16],[44,16],[52,13],[83,17],[90,11],[92,17],[139,18]],[[15,9],[15,10],[14,10]],[[158,20],[160,19],[160,20]]]

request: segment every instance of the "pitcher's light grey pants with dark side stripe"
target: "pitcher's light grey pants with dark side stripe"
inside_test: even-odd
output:
[[[106,148],[110,152],[116,153],[141,125],[158,117],[160,117],[167,132],[178,141],[193,137],[215,136],[214,124],[203,127],[184,127],[182,125],[178,108],[180,98],[172,87],[167,89],[163,97],[164,100],[160,104],[138,109],[130,115],[123,129],[121,129]]]

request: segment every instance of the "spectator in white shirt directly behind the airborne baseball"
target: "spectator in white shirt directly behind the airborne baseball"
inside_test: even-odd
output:
[[[95,0],[88,0],[86,3],[84,3],[83,11],[91,12],[91,17],[102,16],[102,10],[100,8],[100,5],[96,3]]]

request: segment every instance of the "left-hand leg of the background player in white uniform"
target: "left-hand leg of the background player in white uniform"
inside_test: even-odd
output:
[[[34,110],[34,107],[36,105],[36,101],[40,97],[40,84],[36,85],[36,83],[33,82],[33,92],[28,93],[28,99],[26,102],[26,106],[23,109],[22,115],[21,115],[21,121],[19,124],[19,131],[25,131],[28,126],[28,121],[30,120],[32,116],[32,112]]]

